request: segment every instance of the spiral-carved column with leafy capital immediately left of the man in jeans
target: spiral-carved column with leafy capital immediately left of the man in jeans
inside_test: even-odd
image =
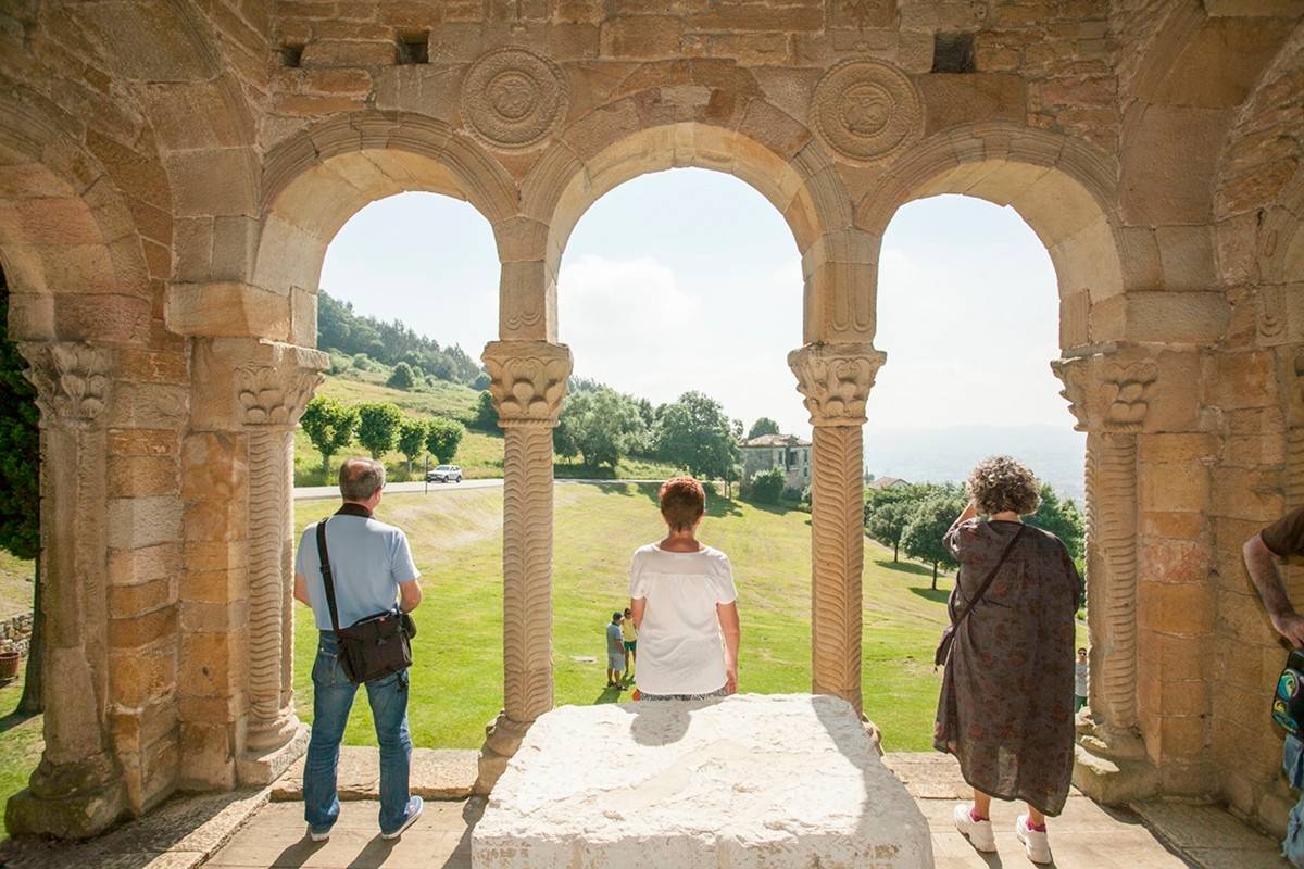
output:
[[[306,740],[293,709],[288,666],[293,649],[293,431],[321,382],[319,367],[289,360],[252,362],[235,371],[249,444],[249,718],[239,762],[239,778],[246,784],[274,779],[303,753]]]

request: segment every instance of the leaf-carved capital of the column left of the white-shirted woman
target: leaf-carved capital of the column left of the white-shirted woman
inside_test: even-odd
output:
[[[490,341],[480,357],[489,370],[489,393],[498,425],[557,425],[574,361],[570,348],[549,341]]]

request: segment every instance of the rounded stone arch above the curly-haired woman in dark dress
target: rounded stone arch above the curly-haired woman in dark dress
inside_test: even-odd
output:
[[[1055,266],[1060,347],[1088,347],[1121,337],[1124,293],[1144,285],[1124,255],[1116,175],[1111,159],[1080,139],[1005,124],[955,128],[896,162],[859,202],[857,223],[878,242],[911,199],[960,193],[1013,207]]]

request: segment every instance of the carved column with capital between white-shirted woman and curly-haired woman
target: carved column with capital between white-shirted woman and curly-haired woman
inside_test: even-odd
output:
[[[887,356],[870,344],[788,354],[815,427],[811,490],[811,691],[861,711],[865,401]]]

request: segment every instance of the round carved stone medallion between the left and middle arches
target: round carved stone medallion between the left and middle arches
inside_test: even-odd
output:
[[[528,149],[557,128],[569,98],[557,64],[524,48],[498,48],[467,70],[462,117],[493,147]]]

